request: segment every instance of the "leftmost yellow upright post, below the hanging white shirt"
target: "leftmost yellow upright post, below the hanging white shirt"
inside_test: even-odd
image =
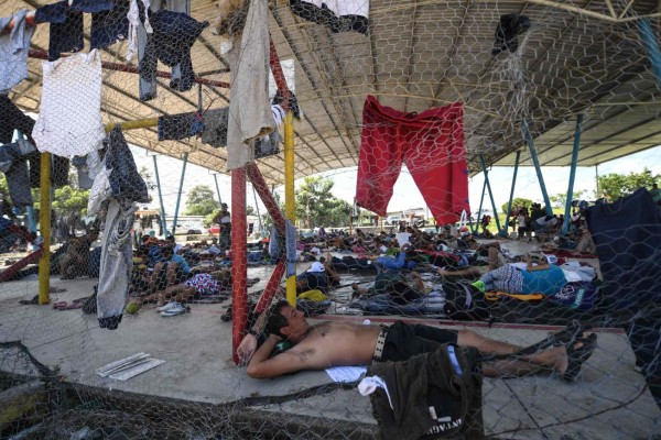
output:
[[[39,304],[51,301],[51,153],[41,154],[39,223],[44,253],[39,258]]]

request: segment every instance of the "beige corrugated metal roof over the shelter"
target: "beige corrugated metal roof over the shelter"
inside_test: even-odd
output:
[[[51,1],[0,4],[0,15]],[[9,4],[11,3],[11,4]],[[466,148],[473,174],[480,155],[495,166],[532,162],[521,131],[530,127],[540,162],[571,163],[576,116],[585,117],[579,165],[590,166],[661,144],[657,123],[659,87],[640,37],[639,19],[655,13],[655,0],[637,1],[440,1],[372,0],[368,35],[332,33],[294,15],[289,3],[271,3],[270,31],[281,59],[293,59],[295,95],[303,118],[295,123],[297,177],[356,166],[366,96],[407,112],[464,102]],[[570,10],[567,10],[570,9]],[[519,36],[516,53],[492,56],[499,16],[519,13],[532,28]],[[213,21],[215,2],[193,0],[192,15]],[[621,15],[621,16],[620,16]],[[89,16],[86,16],[89,30]],[[651,20],[654,34],[659,23]],[[87,32],[87,31],[86,31]],[[47,50],[48,28],[40,25],[34,50]],[[104,61],[126,63],[127,43],[104,51]],[[220,38],[210,28],[193,47],[198,75],[229,81]],[[136,59],[132,61],[134,65]],[[30,78],[11,99],[39,111],[41,61],[30,61]],[[163,67],[162,67],[163,68]],[[205,108],[225,107],[229,90],[202,86],[187,92],[159,79],[159,97],[138,99],[138,76],[105,72],[106,122],[193,111],[201,94]],[[226,150],[198,139],[159,142],[154,129],[127,132],[129,142],[224,172]],[[283,182],[283,156],[258,161],[269,183]]]

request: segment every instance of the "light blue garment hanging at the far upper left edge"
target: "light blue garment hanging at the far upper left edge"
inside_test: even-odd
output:
[[[26,9],[21,9],[13,16],[0,18],[0,30],[14,21],[11,32],[0,34],[0,94],[9,90],[28,78],[28,50],[34,33],[34,26],[25,22]]]

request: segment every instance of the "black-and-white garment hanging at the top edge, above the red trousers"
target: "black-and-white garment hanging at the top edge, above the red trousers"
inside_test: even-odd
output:
[[[292,12],[302,19],[327,26],[330,31],[359,32],[369,29],[369,0],[291,0]]]

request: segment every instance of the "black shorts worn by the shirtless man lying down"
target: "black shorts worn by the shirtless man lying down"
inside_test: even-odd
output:
[[[456,344],[457,337],[456,330],[397,321],[388,330],[381,361],[407,361],[414,355],[433,352],[441,344]]]

